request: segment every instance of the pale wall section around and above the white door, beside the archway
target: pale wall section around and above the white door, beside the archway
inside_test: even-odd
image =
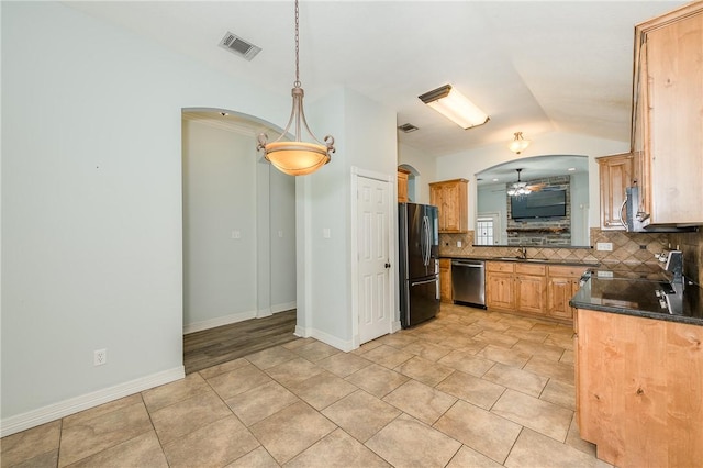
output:
[[[352,168],[394,180],[395,114],[348,89],[332,92],[306,111],[317,137],[334,135],[337,152],[330,165],[297,181],[298,307],[306,311],[299,313],[298,328],[304,336],[352,349],[352,252],[356,242],[350,229],[350,216],[355,215],[350,209]],[[394,191],[394,183],[390,183]],[[395,210],[392,212],[395,215]],[[323,237],[324,229],[330,230],[330,238]],[[391,248],[394,246],[393,242]],[[394,304],[391,309],[395,310]]]

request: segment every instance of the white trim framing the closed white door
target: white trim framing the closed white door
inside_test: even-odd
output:
[[[382,182],[388,182],[388,202],[391,208],[391,213],[389,216],[389,226],[388,226],[388,235],[389,247],[388,247],[388,256],[389,261],[391,264],[391,268],[389,271],[389,285],[391,285],[391,289],[393,294],[390,297],[390,311],[391,311],[391,321],[388,333],[394,333],[400,330],[400,314],[397,308],[398,304],[398,275],[397,275],[397,253],[398,253],[398,242],[395,241],[398,237],[397,226],[398,226],[398,210],[393,210],[393,207],[398,205],[398,192],[393,190],[395,176],[388,175],[382,172],[377,172],[372,170],[361,169],[356,166],[352,166],[352,190],[350,190],[350,229],[352,241],[350,242],[350,254],[352,258],[349,264],[352,265],[352,347],[353,349],[358,348],[361,343],[359,338],[359,283],[358,283],[358,274],[359,274],[359,248],[358,248],[358,239],[357,239],[357,210],[358,210],[358,191],[359,191],[359,178],[380,180]]]

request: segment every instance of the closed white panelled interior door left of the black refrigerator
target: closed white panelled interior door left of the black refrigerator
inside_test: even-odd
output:
[[[390,183],[358,178],[359,342],[391,331]]]

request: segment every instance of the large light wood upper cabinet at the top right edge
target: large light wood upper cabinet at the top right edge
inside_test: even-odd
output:
[[[703,224],[703,2],[635,27],[634,83],[638,216]]]

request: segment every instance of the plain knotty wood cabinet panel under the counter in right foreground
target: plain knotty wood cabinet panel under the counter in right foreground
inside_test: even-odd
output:
[[[618,467],[703,460],[703,326],[579,309],[577,421]]]

